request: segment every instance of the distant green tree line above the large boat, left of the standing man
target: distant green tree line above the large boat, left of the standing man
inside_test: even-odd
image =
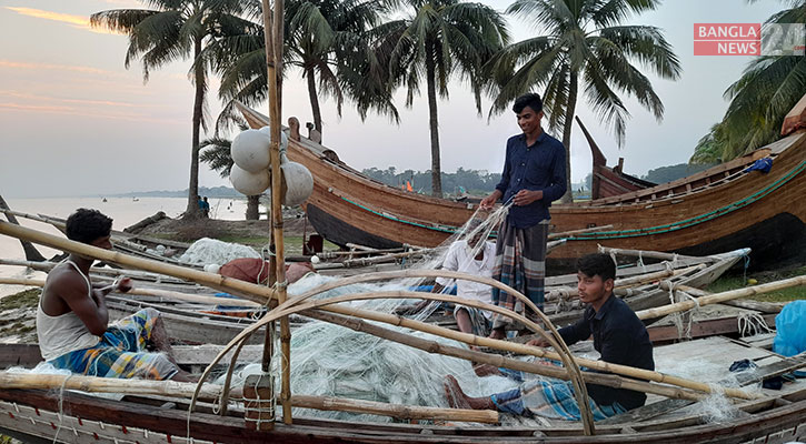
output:
[[[411,188],[416,192],[429,193],[431,191],[430,171],[420,172],[406,170],[398,173],[395,167],[389,167],[386,170],[370,168],[364,170],[362,173],[379,182],[384,182],[387,185],[400,188],[400,185],[406,185],[406,181],[409,181],[409,183],[411,183]],[[459,168],[455,173],[444,172],[441,175],[445,190],[456,194],[461,194],[460,188],[466,190],[469,194],[487,194],[492,192],[495,186],[501,180],[500,173],[465,170],[462,168]]]

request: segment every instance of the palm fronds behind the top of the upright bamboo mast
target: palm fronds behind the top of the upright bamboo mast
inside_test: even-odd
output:
[[[253,0],[251,0],[253,1]],[[369,110],[398,121],[384,70],[370,48],[372,28],[389,0],[290,0],[285,4],[283,63],[299,69],[308,85],[314,128],[322,132],[320,97],[331,97],[338,115],[345,98],[355,101],[360,117]],[[219,95],[230,101],[219,117],[219,129],[233,117],[231,100],[255,105],[268,94],[263,29],[259,14],[243,32],[221,39],[206,56],[221,75]]]

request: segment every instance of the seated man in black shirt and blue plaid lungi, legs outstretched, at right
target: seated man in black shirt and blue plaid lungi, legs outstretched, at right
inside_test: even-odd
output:
[[[613,295],[616,265],[607,254],[589,254],[577,262],[579,300],[589,304],[576,324],[559,329],[566,344],[585,341],[593,335],[594,349],[601,361],[645,370],[655,370],[653,344],[638,316],[620,299]],[[548,346],[545,340],[529,345]],[[579,420],[579,405],[571,383],[545,381],[528,374],[491,366],[477,367],[478,374],[504,374],[521,384],[508,392],[485,397],[466,395],[456,379],[446,376],[445,394],[456,408],[498,410],[518,415],[539,415],[558,420]],[[603,420],[646,402],[646,394],[626,389],[587,384],[590,410],[595,420]]]

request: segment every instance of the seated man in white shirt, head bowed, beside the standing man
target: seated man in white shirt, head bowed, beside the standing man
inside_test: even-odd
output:
[[[474,219],[466,230],[470,238],[450,244],[445,261],[442,262],[444,270],[458,271],[482,278],[492,276],[496,246],[488,241],[479,242],[482,234],[479,225],[480,221]],[[437,278],[434,292],[440,293],[445,287],[452,284],[452,279]],[[486,304],[491,303],[492,300],[489,285],[465,280],[457,280],[456,295],[470,301],[480,301]],[[454,307],[454,317],[462,333],[472,333],[479,336],[489,334],[492,313],[488,311],[456,305]]]

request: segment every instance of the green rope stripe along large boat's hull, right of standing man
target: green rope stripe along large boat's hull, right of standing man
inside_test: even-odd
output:
[[[595,233],[580,233],[580,234],[577,234],[574,236],[566,238],[566,239],[569,241],[593,241],[593,240],[604,240],[604,239],[637,238],[637,236],[645,236],[645,235],[650,235],[650,234],[668,233],[671,231],[677,231],[680,229],[695,226],[697,224],[708,222],[716,218],[729,214],[736,210],[740,210],[752,203],[755,203],[756,201],[767,196],[773,191],[779,189],[780,186],[783,186],[784,184],[786,184],[787,182],[793,180],[796,175],[802,173],[804,170],[806,170],[806,161],[800,162],[800,164],[795,167],[792,171],[787,172],[784,176],[782,176],[777,181],[770,183],[769,185],[765,186],[764,189],[757,191],[756,193],[750,194],[747,198],[735,201],[733,203],[729,203],[719,209],[709,211],[707,213],[699,214],[694,218],[685,219],[683,221],[673,222],[673,223],[668,223],[668,224],[664,224],[664,225],[648,226],[648,228],[643,228],[643,229],[599,231],[599,232],[595,232]]]

